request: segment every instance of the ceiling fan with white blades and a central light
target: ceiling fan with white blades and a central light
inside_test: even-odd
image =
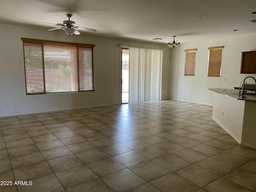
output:
[[[66,16],[68,17],[68,20],[64,20],[63,23],[56,23],[56,24],[50,23],[50,24],[54,24],[55,26],[60,26],[60,27],[48,29],[48,31],[52,31],[52,30],[56,30],[56,29],[63,29],[66,32],[66,34],[68,34],[69,36],[72,34],[80,35],[80,32],[78,30],[96,32],[96,29],[80,27],[74,21],[70,21],[72,14],[68,13],[68,14],[66,14]],[[43,23],[48,23],[48,22],[43,22]]]

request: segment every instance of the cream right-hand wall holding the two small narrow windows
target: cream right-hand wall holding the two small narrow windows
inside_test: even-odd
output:
[[[224,46],[221,76],[208,77],[208,47],[215,46]],[[195,76],[184,76],[184,50],[194,48],[197,48]],[[208,88],[233,89],[247,76],[256,78],[256,74],[240,74],[241,52],[255,50],[256,34],[184,43],[174,48],[170,68],[170,99],[212,105],[213,93]],[[227,82],[223,82],[223,78]]]

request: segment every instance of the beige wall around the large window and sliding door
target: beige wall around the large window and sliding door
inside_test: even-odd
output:
[[[68,36],[64,31],[47,31],[0,24],[0,116],[38,113],[88,106],[120,104],[120,47],[118,44],[166,48],[163,58],[162,99],[169,98],[170,52],[165,44],[122,40],[90,35]],[[95,44],[95,91],[63,94],[26,95],[22,40],[34,38]],[[106,100],[103,97],[106,96]],[[9,104],[9,108],[6,108]]]

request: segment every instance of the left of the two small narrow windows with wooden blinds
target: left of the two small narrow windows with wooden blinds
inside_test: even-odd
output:
[[[185,50],[186,52],[185,76],[195,76],[196,50],[197,49]]]

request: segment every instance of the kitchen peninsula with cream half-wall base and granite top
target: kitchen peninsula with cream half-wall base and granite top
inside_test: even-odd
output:
[[[256,149],[256,94],[210,88],[213,91],[212,119],[239,144]],[[252,93],[252,94],[248,94]]]

